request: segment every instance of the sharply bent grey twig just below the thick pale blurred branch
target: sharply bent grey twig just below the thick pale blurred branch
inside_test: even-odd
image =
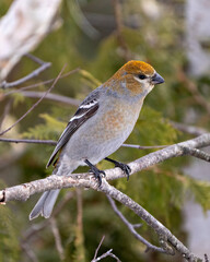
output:
[[[48,69],[49,67],[51,67],[51,63],[50,62],[45,62],[43,60],[40,60],[39,58],[36,58],[34,57],[33,55],[31,53],[26,53],[25,55],[26,57],[28,57],[30,59],[32,59],[33,61],[35,61],[36,63],[40,64],[40,67],[38,69],[35,69],[33,72],[31,72],[30,74],[27,74],[26,76],[20,79],[20,80],[16,80],[16,81],[13,81],[13,82],[7,82],[7,81],[3,81],[1,84],[0,84],[0,87],[5,90],[5,88],[11,88],[11,87],[15,87],[20,84],[23,84],[25,83],[26,81],[31,80],[31,79],[34,79],[36,78],[38,74],[40,74],[43,71],[45,71],[46,69]]]

